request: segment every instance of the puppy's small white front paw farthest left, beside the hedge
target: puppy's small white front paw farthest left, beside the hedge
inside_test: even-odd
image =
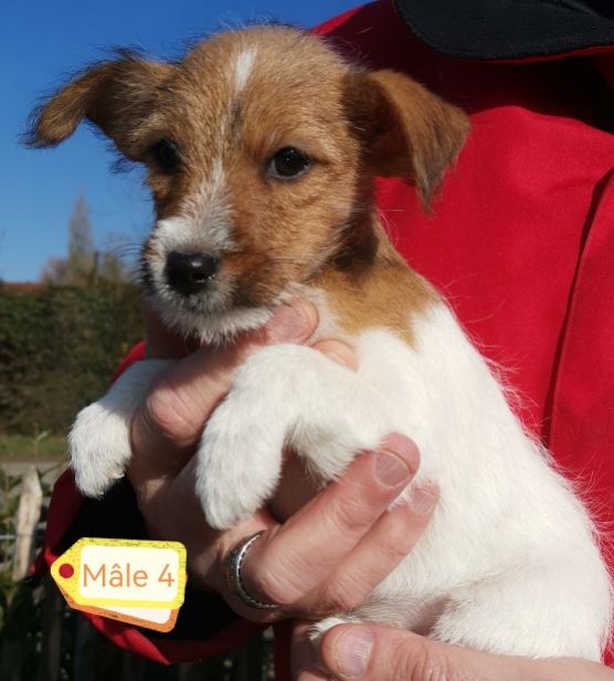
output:
[[[126,418],[94,402],[83,409],[68,436],[71,468],[85,496],[102,496],[124,476],[130,460],[130,433]]]

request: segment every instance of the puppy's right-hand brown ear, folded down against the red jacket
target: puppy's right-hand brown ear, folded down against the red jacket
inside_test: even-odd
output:
[[[412,179],[428,209],[469,132],[467,116],[394,71],[353,76],[350,102],[373,172]]]

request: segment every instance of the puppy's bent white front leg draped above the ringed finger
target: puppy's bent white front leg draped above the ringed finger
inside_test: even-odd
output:
[[[197,492],[208,522],[227,528],[263,506],[279,480],[285,446],[327,481],[357,451],[375,447],[394,420],[387,400],[353,401],[369,391],[360,376],[308,347],[274,345],[250,358],[199,448]]]

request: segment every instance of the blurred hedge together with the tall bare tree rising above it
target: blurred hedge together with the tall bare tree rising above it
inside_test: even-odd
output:
[[[42,432],[64,432],[142,337],[135,264],[121,250],[96,249],[83,193],[66,227],[66,256],[50,259],[38,283],[0,282],[3,436],[36,442]]]

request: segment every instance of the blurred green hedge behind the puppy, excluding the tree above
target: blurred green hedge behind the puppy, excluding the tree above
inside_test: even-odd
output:
[[[0,285],[0,431],[66,430],[141,337],[135,286]]]

